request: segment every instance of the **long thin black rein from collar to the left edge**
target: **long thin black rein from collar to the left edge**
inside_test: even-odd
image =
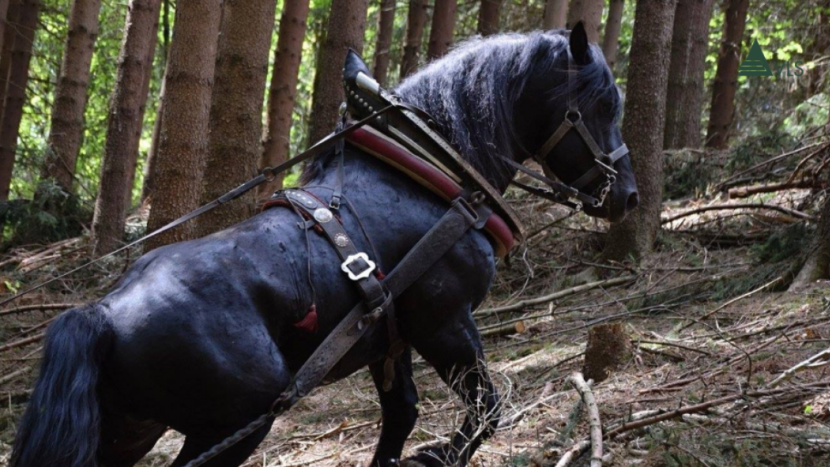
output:
[[[215,208],[217,208],[217,207],[219,207],[219,206],[221,206],[225,203],[231,202],[231,201],[235,200],[236,198],[239,198],[240,196],[244,195],[245,193],[247,193],[247,192],[253,190],[254,188],[256,188],[257,186],[261,185],[262,183],[273,180],[274,177],[276,177],[280,173],[285,172],[286,170],[290,169],[291,167],[294,167],[295,165],[314,157],[315,155],[319,154],[320,151],[322,151],[323,149],[331,146],[332,144],[337,143],[339,141],[342,141],[344,138],[349,136],[349,134],[351,134],[352,132],[354,132],[358,128],[362,127],[363,125],[366,125],[367,123],[369,123],[373,118],[378,117],[380,115],[383,115],[386,112],[394,109],[395,107],[396,107],[395,105],[390,105],[390,106],[384,107],[384,108],[378,110],[377,112],[369,115],[368,117],[355,122],[354,125],[349,126],[349,127],[345,128],[341,131],[338,131],[336,133],[332,133],[332,134],[326,136],[325,138],[318,141],[314,146],[306,149],[304,152],[292,157],[291,159],[288,159],[287,161],[283,162],[282,164],[280,164],[276,167],[266,167],[266,168],[262,169],[262,171],[256,177],[248,180],[247,182],[243,183],[242,185],[239,185],[238,187],[234,188],[233,190],[225,193],[224,195],[220,196],[219,198],[216,198],[215,200],[211,201],[210,203],[205,204],[204,206],[196,209],[195,211],[191,211],[191,212],[185,214],[184,216],[179,217],[178,219],[170,222],[169,224],[167,224],[163,227],[160,227],[160,228],[154,230],[153,232],[148,233],[147,235],[139,238],[138,240],[134,240],[134,241],[122,246],[121,248],[118,248],[117,250],[111,251],[111,252],[109,252],[109,253],[107,253],[103,256],[99,256],[98,258],[95,258],[91,261],[88,261],[88,262],[76,267],[75,269],[67,271],[67,272],[65,272],[65,273],[63,273],[63,274],[61,274],[57,277],[53,277],[52,279],[49,279],[49,280],[43,281],[39,284],[33,285],[32,287],[29,287],[28,289],[23,290],[22,292],[18,292],[18,293],[12,295],[11,297],[9,297],[7,299],[5,299],[3,301],[0,301],[0,306],[3,306],[3,305],[5,305],[7,303],[10,303],[10,302],[13,302],[13,301],[17,300],[18,298],[20,298],[24,295],[28,295],[28,294],[34,292],[35,290],[41,289],[41,288],[51,284],[52,282],[63,279],[66,276],[75,274],[76,272],[80,271],[81,269],[92,266],[93,264],[98,263],[98,262],[100,262],[100,261],[102,261],[106,258],[109,258],[110,256],[115,256],[115,255],[117,255],[118,253],[121,253],[124,250],[128,250],[128,249],[130,249],[130,248],[132,248],[132,247],[134,247],[138,244],[144,243],[147,240],[149,240],[149,239],[151,239],[151,238],[153,238],[153,237],[155,237],[155,236],[157,236],[157,235],[159,235],[163,232],[167,232],[168,230],[173,229],[174,227],[178,227],[179,225],[184,224],[185,222],[187,222],[191,219],[195,219],[195,218],[201,216],[202,214],[204,214],[208,211],[211,211],[211,210],[213,210],[213,209],[215,209]]]

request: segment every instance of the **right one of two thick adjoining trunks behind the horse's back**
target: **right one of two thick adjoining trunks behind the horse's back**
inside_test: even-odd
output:
[[[210,107],[210,152],[202,183],[202,204],[257,173],[276,4],[276,0],[229,0],[225,4]],[[197,235],[211,234],[253,215],[255,195],[249,192],[199,217]]]

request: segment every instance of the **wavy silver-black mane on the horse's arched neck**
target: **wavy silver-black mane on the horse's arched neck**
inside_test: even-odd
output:
[[[568,31],[500,34],[475,37],[405,79],[393,92],[402,101],[429,113],[439,131],[491,182],[509,170],[499,156],[513,158],[513,109],[534,74],[567,69]],[[605,93],[617,93],[602,52],[591,47],[594,60],[579,67],[576,95],[580,108]],[[540,99],[567,94],[567,81]],[[619,102],[619,99],[612,99]],[[619,109],[612,109],[619,114]],[[326,153],[306,164],[301,180],[315,178]]]

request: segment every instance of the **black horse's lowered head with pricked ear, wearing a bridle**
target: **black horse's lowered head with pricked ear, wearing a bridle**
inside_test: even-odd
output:
[[[548,177],[602,199],[599,206],[583,203],[588,215],[619,222],[639,203],[618,125],[619,91],[602,52],[589,44],[582,23],[571,31],[567,51],[555,50],[536,50],[540,56],[532,58],[535,64],[514,105],[520,146],[515,155],[534,157]],[[603,188],[611,181],[603,199]]]

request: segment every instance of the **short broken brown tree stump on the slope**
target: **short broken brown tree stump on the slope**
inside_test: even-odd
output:
[[[631,339],[622,323],[600,324],[588,330],[582,373],[595,383],[631,359]]]

